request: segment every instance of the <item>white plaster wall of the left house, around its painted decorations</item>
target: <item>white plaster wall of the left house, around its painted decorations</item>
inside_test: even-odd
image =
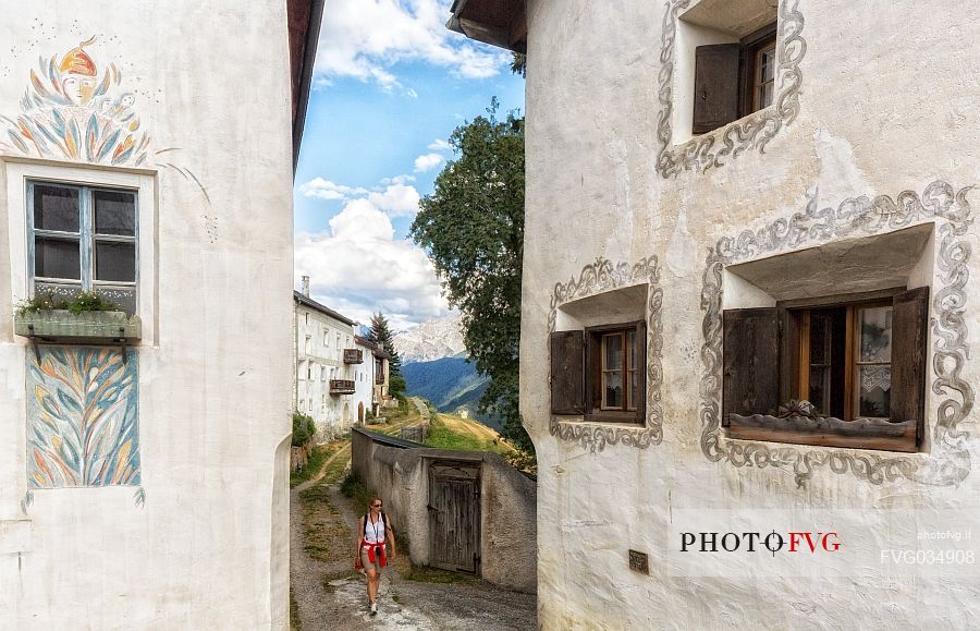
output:
[[[38,58],[114,61],[151,147],[152,339],[139,345],[145,505],[133,487],[35,490],[25,342],[0,168],[0,628],[284,629],[293,372],[285,5],[0,1],[0,114]],[[162,155],[161,155],[162,156]],[[207,191],[177,171],[193,172]],[[208,202],[209,199],[209,202]],[[143,289],[143,288],[140,288]]]

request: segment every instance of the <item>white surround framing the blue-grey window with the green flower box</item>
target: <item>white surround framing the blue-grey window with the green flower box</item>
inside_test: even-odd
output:
[[[136,315],[143,323],[143,339],[136,345],[156,343],[157,310],[157,274],[156,268],[156,233],[157,233],[157,172],[152,169],[131,169],[107,167],[105,165],[85,165],[77,162],[60,162],[35,158],[0,157],[0,168],[7,180],[7,220],[10,260],[22,262],[12,265],[11,299],[14,304],[30,295],[33,277],[28,260],[27,233],[27,181],[44,180],[81,184],[85,186],[111,186],[130,189],[136,192],[137,225],[139,226],[137,244],[137,269],[140,270],[137,281]],[[26,343],[26,342],[25,342]]]

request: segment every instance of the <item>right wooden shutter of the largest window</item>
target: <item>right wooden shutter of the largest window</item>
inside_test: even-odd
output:
[[[892,410],[893,422],[926,416],[926,356],[929,340],[929,288],[899,293],[892,300]],[[921,434],[919,434],[921,438]]]

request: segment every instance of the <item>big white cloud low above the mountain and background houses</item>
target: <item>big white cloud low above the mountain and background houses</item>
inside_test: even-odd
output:
[[[330,229],[296,236],[296,275],[308,275],[316,300],[367,323],[385,314],[394,329],[449,312],[426,253],[395,240],[391,219],[370,199],[354,199],[330,220]]]

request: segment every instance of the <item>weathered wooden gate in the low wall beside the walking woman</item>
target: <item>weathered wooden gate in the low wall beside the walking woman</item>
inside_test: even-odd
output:
[[[429,465],[429,565],[454,572],[480,571],[480,465]]]

